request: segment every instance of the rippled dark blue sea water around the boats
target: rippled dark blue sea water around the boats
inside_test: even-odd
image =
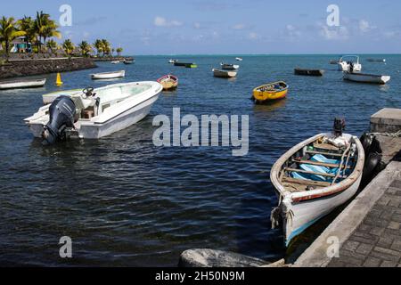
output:
[[[384,57],[388,63],[366,62]],[[55,75],[44,88],[0,91],[0,265],[175,266],[188,248],[230,250],[282,258],[282,233],[270,229],[277,199],[269,170],[284,151],[345,117],[347,132],[361,135],[372,113],[401,107],[401,56],[364,55],[363,71],[389,74],[389,85],[343,82],[335,55],[243,56],[238,77],[215,78],[211,69],[234,56],[182,56],[198,69],[168,64],[168,56],[139,56],[135,65],[99,63],[98,69],[62,74],[63,89],[180,79],[160,95],[149,117],[99,141],[43,147],[22,122],[58,90]],[[293,75],[295,67],[326,69],[324,77]],[[93,82],[93,72],[126,69],[122,80]],[[288,98],[254,105],[253,87],[284,80]],[[181,113],[250,116],[250,152],[230,148],[158,148],[152,118]],[[73,259],[59,257],[70,236]],[[305,241],[307,242],[307,241]],[[306,245],[299,246],[300,248]]]

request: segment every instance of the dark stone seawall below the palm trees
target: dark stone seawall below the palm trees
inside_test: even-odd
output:
[[[55,72],[94,69],[96,64],[88,58],[58,58],[41,60],[15,60],[0,65],[0,79],[26,77]]]

